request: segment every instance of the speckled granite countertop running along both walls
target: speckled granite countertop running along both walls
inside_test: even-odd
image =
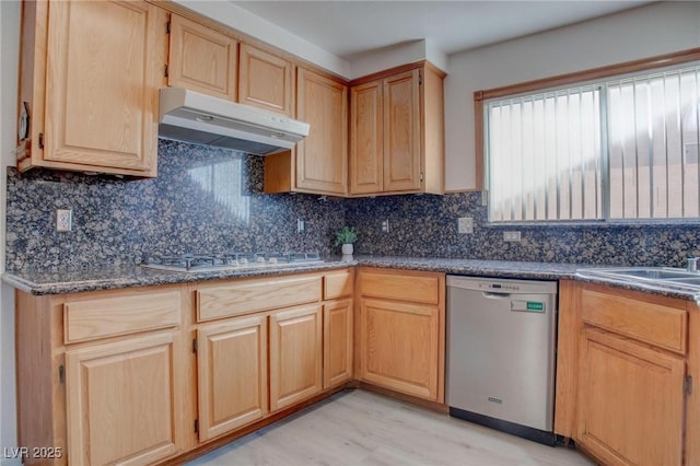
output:
[[[590,283],[611,284],[617,288],[662,294],[699,302],[700,294],[673,287],[656,287],[639,282],[583,277],[576,270],[590,267],[583,264],[526,263],[511,260],[478,260],[452,258],[425,258],[402,256],[355,256],[354,260],[338,258],[324,263],[293,266],[230,269],[209,272],[165,271],[138,265],[120,265],[108,268],[81,268],[60,272],[22,270],[5,272],[2,280],[10,286],[35,295],[65,294],[82,291],[110,290],[132,287],[151,287],[245,277],[266,277],[292,272],[332,270],[345,267],[383,267],[394,269],[439,271],[454,275],[494,277],[504,279],[560,280],[575,279]]]

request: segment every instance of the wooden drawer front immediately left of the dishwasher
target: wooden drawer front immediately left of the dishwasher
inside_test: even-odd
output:
[[[360,293],[363,296],[438,304],[440,281],[432,275],[360,273]]]

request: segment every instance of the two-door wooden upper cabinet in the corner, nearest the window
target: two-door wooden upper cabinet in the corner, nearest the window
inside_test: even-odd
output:
[[[444,73],[430,63],[350,89],[350,195],[444,193]]]

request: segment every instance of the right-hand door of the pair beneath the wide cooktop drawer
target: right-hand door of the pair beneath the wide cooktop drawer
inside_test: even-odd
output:
[[[270,410],[293,405],[322,389],[320,304],[270,315]]]

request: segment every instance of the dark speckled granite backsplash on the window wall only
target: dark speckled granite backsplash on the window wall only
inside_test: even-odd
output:
[[[487,226],[487,215],[480,193],[346,200],[360,254],[676,267],[700,255],[698,225]],[[474,234],[457,233],[459,217],[474,218]],[[522,242],[504,242],[506,230]]]

